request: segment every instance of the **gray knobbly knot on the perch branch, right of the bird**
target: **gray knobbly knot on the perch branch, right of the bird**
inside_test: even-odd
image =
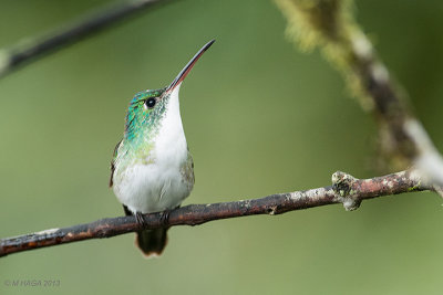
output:
[[[358,179],[342,171],[337,171],[332,175],[332,189],[336,197],[343,204],[347,211],[356,210],[360,207],[361,200],[352,189],[353,183]]]

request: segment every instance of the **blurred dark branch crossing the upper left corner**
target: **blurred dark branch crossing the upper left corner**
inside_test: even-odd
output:
[[[142,9],[151,8],[162,0],[133,0],[114,4],[99,12],[85,17],[82,21],[53,32],[43,38],[22,40],[11,49],[0,51],[0,77],[31,61],[35,61],[47,53],[54,52],[63,46],[73,44],[97,33],[117,21],[135,14]],[[163,1],[165,2],[165,1]]]

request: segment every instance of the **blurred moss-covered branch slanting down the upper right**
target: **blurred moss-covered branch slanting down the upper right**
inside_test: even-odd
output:
[[[406,160],[443,187],[443,158],[409,110],[372,43],[354,20],[352,0],[275,0],[288,19],[288,35],[302,49],[319,46],[344,75],[352,93],[379,119],[384,150]]]

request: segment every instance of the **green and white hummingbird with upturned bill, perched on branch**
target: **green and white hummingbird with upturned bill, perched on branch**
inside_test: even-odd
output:
[[[126,215],[145,225],[144,213],[167,213],[178,208],[194,187],[190,156],[179,112],[178,93],[184,78],[203,53],[206,43],[166,87],[146,89],[132,98],[123,139],[114,149],[110,187]],[[135,244],[148,257],[161,255],[167,228],[136,232]]]

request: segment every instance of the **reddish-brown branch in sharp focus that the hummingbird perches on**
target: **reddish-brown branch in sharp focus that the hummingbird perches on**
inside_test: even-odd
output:
[[[323,188],[235,202],[189,204],[171,211],[166,222],[162,213],[145,214],[145,219],[147,228],[155,229],[165,225],[197,225],[212,220],[256,214],[274,215],[334,203],[342,203],[346,210],[356,210],[365,199],[423,190],[433,190],[433,187],[425,183],[415,170],[370,179],[357,179],[338,171],[332,175],[332,186]],[[0,240],[0,256],[89,239],[111,238],[141,229],[135,217],[119,217],[45,230]]]

